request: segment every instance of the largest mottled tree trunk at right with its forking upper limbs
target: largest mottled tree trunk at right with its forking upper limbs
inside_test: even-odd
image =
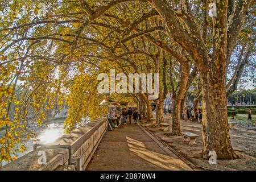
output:
[[[241,31],[250,1],[240,0],[234,14],[227,20],[228,0],[216,1],[218,16],[213,17],[213,49],[209,54],[196,21],[191,16],[188,1],[181,0],[180,14],[189,31],[180,24],[178,14],[166,0],[150,1],[167,28],[167,34],[179,43],[195,60],[203,75],[203,156],[215,150],[218,159],[234,159],[228,129],[225,75],[234,42]],[[193,34],[191,34],[193,32]]]

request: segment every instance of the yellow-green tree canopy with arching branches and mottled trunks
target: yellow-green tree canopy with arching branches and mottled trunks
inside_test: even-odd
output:
[[[160,74],[155,102],[162,110],[167,93],[174,96],[172,135],[180,135],[180,107],[189,86],[201,85],[204,157],[220,137],[226,147],[216,149],[218,156],[236,158],[221,108],[238,82],[250,79],[255,85],[255,2],[213,2],[217,16],[210,17],[208,0],[1,0],[0,160],[26,150],[14,148],[34,135],[28,122],[42,124],[56,101],[69,106],[67,132],[82,118],[101,116],[106,108],[98,105],[106,96],[97,92],[97,76],[113,68],[126,75]],[[113,97],[139,102],[151,115],[147,95]],[[161,112],[157,117],[163,122]]]

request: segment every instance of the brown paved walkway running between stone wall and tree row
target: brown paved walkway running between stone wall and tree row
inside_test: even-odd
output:
[[[106,131],[86,170],[191,170],[175,154],[167,154],[142,129],[121,125]]]

